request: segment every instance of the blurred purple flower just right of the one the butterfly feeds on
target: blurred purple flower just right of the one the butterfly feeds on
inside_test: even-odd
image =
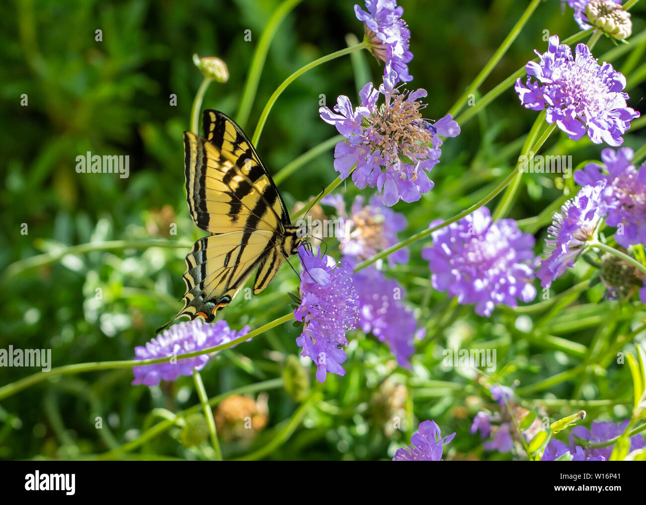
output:
[[[353,280],[359,294],[359,327],[388,344],[397,363],[410,369],[417,320],[401,302],[404,289],[372,265],[356,272]]]

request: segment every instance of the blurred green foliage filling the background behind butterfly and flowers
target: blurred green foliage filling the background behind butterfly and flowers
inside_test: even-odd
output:
[[[402,0],[400,4],[415,54],[411,86],[428,90],[426,116],[433,119],[446,114],[525,8],[525,3],[513,0],[465,0],[459,5]],[[202,80],[191,56],[214,55],[226,61],[229,81],[211,85],[204,107],[234,114],[255,45],[276,5],[276,0],[3,3],[0,267],[4,270],[17,260],[80,243],[151,238],[190,243],[202,236],[189,218],[183,179],[182,132],[189,128],[191,103]],[[243,125],[247,131],[253,131],[267,98],[291,72],[343,48],[346,34],[362,37],[352,5],[341,0],[306,0],[287,16],[271,44],[251,117]],[[643,13],[640,3],[633,11],[634,34],[645,29]],[[98,29],[102,41],[95,40]],[[245,41],[245,30],[251,30],[251,41]],[[543,30],[563,39],[578,27],[572,11],[562,15],[555,0],[541,4],[481,91],[524,65],[534,56],[534,48],[545,50]],[[612,47],[602,39],[595,54]],[[643,42],[640,47],[643,54]],[[633,64],[627,54],[616,62],[616,68],[631,65],[634,70],[639,58]],[[382,68],[377,62],[367,53],[362,59],[373,78],[379,79]],[[259,143],[269,169],[276,173],[336,133],[318,117],[321,94],[331,106],[339,94],[355,99],[356,89],[349,57],[315,68],[287,88],[269,114]],[[641,107],[644,89],[641,78],[630,90],[632,107]],[[21,107],[23,94],[28,96],[26,107]],[[176,107],[170,105],[171,94],[177,97]],[[491,184],[512,169],[521,147],[516,140],[535,117],[536,113],[520,107],[510,89],[486,112],[463,125],[461,136],[443,146],[442,161],[432,172],[435,189],[419,205],[397,205],[396,210],[404,212],[409,222],[406,233],[452,216],[490,191]],[[631,131],[625,138],[625,145],[637,149],[644,142],[643,130]],[[598,159],[601,147],[585,140],[574,145],[555,135],[547,150],[574,154],[576,165]],[[130,177],[77,174],[76,156],[87,151],[129,155]],[[282,183],[289,207],[335,178],[332,161],[332,153],[327,152]],[[565,181],[565,187],[570,183]],[[536,216],[561,195],[563,187],[564,181],[552,176],[523,181],[512,217]],[[345,189],[349,202],[357,191],[351,185]],[[21,234],[22,223],[28,225],[26,235]],[[177,236],[169,235],[171,223],[177,224]],[[537,252],[545,224],[532,230],[537,232]],[[528,386],[571,369],[587,353],[612,351],[618,336],[629,334],[639,318],[646,316],[641,309],[636,312],[601,300],[603,286],[597,283],[555,313],[519,315],[499,309],[492,318],[480,318],[471,307],[458,307],[448,312],[446,320],[443,314],[450,300],[443,293],[430,293],[428,304],[422,304],[429,290],[421,247],[422,243],[414,244],[412,262],[390,272],[406,286],[406,301],[427,329],[413,371],[397,368],[388,349],[372,336],[353,333],[346,376],[328,375],[320,388],[323,399],[307,409],[289,441],[269,457],[389,458],[399,444],[410,440],[417,422],[434,419],[444,435],[458,433],[450,445],[450,457],[507,458],[483,452],[481,440],[468,433],[475,412],[492,404],[486,381],[461,369],[444,368],[442,349],[458,344],[495,347],[499,380],[508,386],[514,380]],[[5,276],[0,348],[10,344],[51,348],[53,366],[131,359],[133,347],[152,338],[154,329],[181,307],[178,300],[184,290],[187,251],[188,247],[94,251],[67,255],[12,278]],[[338,256],[333,244],[331,253]],[[578,282],[586,270],[587,265],[578,265],[573,274],[555,283],[553,292]],[[269,322],[289,311],[286,292],[295,289],[297,282],[285,267],[262,296],[238,297],[224,317],[235,329]],[[217,356],[202,373],[207,393],[214,396],[282,376],[288,356],[297,353],[297,335],[296,328],[283,325]],[[559,350],[545,336],[567,339],[574,351]],[[589,419],[629,416],[630,374],[626,367],[614,364],[612,356],[606,357],[575,380],[550,389],[547,398],[563,400],[551,407],[550,416],[580,409],[570,408],[568,400],[596,399],[611,399],[612,404],[590,407]],[[31,372],[0,369],[0,385]],[[198,403],[191,378],[151,388],[130,386],[130,380],[128,369],[62,376],[3,400],[0,458],[102,453],[137,437],[156,416]],[[267,426],[252,440],[224,444],[225,457],[262,448],[285,429],[297,403],[280,384],[272,384]],[[401,386],[404,389],[398,385],[405,385]],[[254,397],[259,391],[253,392]],[[402,431],[384,430],[384,416],[388,418],[391,408],[404,417]],[[96,417],[102,418],[103,428],[96,429]],[[143,455],[211,456],[208,447],[183,447],[180,433],[181,427],[175,426],[149,440],[141,448]]]

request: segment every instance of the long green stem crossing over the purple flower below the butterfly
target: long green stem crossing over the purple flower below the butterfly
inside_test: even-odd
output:
[[[227,342],[226,344],[214,345],[213,347],[207,347],[206,349],[201,349],[200,351],[192,351],[191,353],[185,353],[177,356],[165,356],[163,358],[154,358],[150,360],[99,361],[92,363],[78,363],[74,365],[65,365],[52,368],[48,372],[34,373],[33,375],[28,375],[25,378],[21,378],[20,380],[10,382],[5,386],[0,387],[0,400],[14,395],[18,391],[21,391],[26,387],[34,386],[34,384],[37,384],[38,382],[42,382],[47,378],[51,378],[57,375],[68,375],[72,373],[90,372],[96,370],[109,370],[113,368],[130,368],[134,366],[154,365],[158,363],[169,362],[173,358],[175,358],[176,360],[182,360],[184,358],[194,358],[195,356],[216,353],[217,351],[222,351],[222,349],[227,349],[229,347],[233,347],[234,345],[241,344],[242,342],[245,342],[245,340],[254,338],[255,336],[258,336],[261,333],[264,333],[267,330],[280,324],[286,323],[293,318],[293,313],[285,314],[284,316],[281,316],[278,319],[267,323],[266,325],[262,325],[260,328],[256,328],[255,330],[247,333],[247,335],[239,336],[235,340],[231,340],[231,342]]]

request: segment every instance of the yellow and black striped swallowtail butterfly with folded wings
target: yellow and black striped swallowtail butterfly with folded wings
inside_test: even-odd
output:
[[[256,269],[253,294],[260,294],[306,240],[242,128],[207,109],[203,130],[203,137],[184,132],[186,200],[210,235],[186,256],[184,307],[160,330],[181,316],[212,322]]]

